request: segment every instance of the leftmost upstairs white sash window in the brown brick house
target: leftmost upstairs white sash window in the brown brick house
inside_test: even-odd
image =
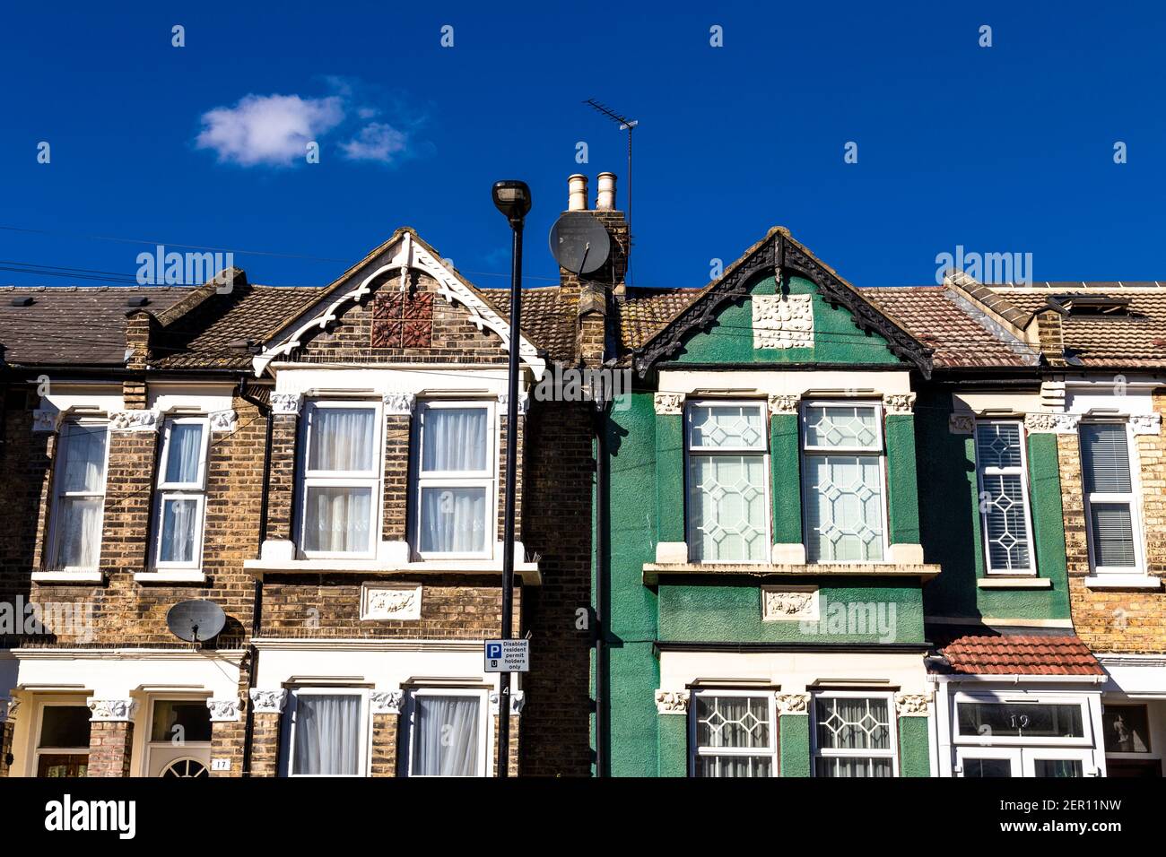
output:
[[[96,570],[101,548],[108,424],[70,420],[61,427],[54,479],[49,568]]]

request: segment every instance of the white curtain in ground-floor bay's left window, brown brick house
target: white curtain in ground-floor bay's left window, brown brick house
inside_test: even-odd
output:
[[[360,765],[360,697],[297,694],[296,774],[354,775]]]

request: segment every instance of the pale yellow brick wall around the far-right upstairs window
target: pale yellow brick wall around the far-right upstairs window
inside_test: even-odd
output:
[[[1166,395],[1154,396],[1154,409],[1166,410]],[[1166,438],[1136,435],[1142,482],[1142,531],[1146,569],[1166,577]],[[1065,542],[1069,569],[1073,621],[1095,652],[1153,653],[1166,651],[1166,591],[1102,590],[1086,586],[1089,546],[1086,528],[1081,449],[1077,435],[1058,435]]]

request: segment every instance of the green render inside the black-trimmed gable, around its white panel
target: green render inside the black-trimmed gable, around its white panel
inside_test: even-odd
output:
[[[676,363],[721,363],[749,366],[773,363],[837,363],[904,365],[877,333],[866,333],[855,324],[850,311],[827,303],[809,280],[786,278],[791,295],[810,295],[814,307],[814,346],[808,349],[754,349],[751,297],[722,307],[717,323],[693,333],[682,350],[669,358]],[[777,279],[761,278],[751,295],[777,294]]]

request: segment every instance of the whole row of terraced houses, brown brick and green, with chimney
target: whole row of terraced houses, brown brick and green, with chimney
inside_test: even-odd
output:
[[[634,288],[590,215],[519,331],[408,229],[0,291],[0,775],[496,773],[512,335],[512,772],[1163,774],[1166,288],[857,288],[782,227]]]

